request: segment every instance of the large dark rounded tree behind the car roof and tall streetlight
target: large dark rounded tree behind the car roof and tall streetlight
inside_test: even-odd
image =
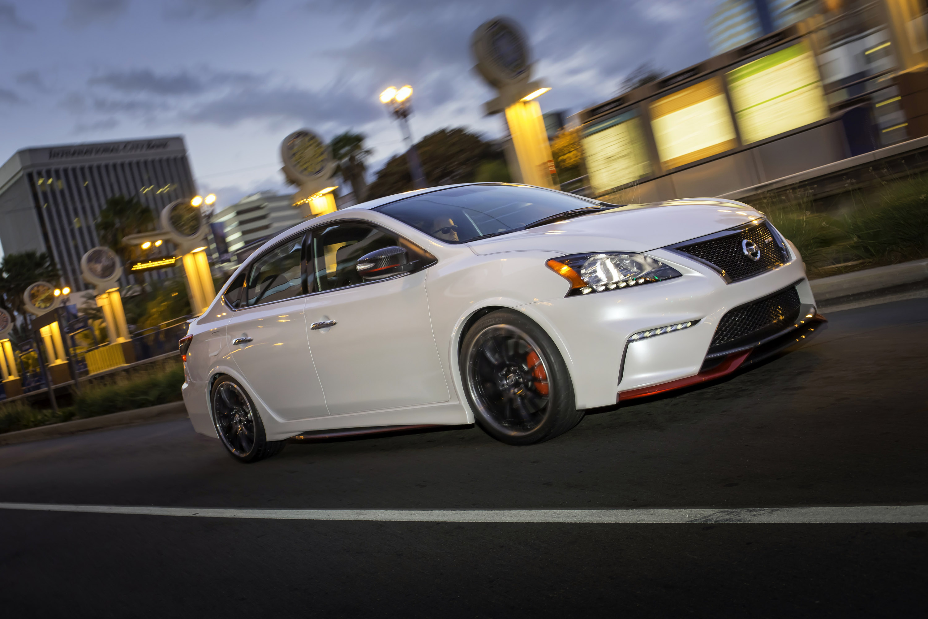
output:
[[[431,186],[469,183],[485,161],[502,159],[502,154],[490,142],[463,127],[439,129],[423,137],[416,148],[422,160],[422,173]],[[483,166],[483,170],[488,167]],[[387,161],[377,173],[377,179],[370,184],[367,200],[412,188],[406,153],[400,153]]]

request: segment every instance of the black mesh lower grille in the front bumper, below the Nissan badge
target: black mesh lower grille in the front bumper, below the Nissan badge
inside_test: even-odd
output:
[[[719,321],[709,352],[762,340],[792,324],[798,317],[799,292],[795,287],[735,307]]]

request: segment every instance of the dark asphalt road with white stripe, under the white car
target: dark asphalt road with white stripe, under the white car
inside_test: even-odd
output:
[[[928,300],[588,415],[289,445],[243,466],[187,420],[0,447],[0,501],[252,509],[928,504]],[[0,509],[6,616],[923,616],[928,524],[306,522]]]

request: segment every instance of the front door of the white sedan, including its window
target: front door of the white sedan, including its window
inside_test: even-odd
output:
[[[406,243],[365,222],[320,226],[310,236],[309,347],[331,415],[446,402],[432,335],[425,271],[363,281],[358,258]],[[330,325],[330,326],[327,326]]]

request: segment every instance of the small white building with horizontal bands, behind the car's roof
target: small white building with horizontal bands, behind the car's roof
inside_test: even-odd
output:
[[[292,194],[281,196],[273,191],[259,191],[213,213],[212,222],[223,225],[228,252],[235,255],[256,240],[270,239],[302,222],[303,213],[293,208],[292,202]],[[213,235],[210,236],[210,252],[218,258]]]

